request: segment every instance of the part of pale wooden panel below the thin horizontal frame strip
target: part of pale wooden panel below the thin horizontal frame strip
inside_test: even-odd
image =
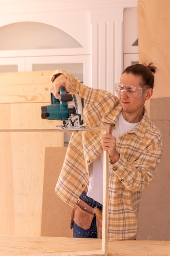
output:
[[[0,141],[0,233],[40,235],[45,148],[63,141],[54,132],[2,132]]]

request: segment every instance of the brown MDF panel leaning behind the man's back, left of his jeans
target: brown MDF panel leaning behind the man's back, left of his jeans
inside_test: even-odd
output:
[[[45,149],[41,236],[73,237],[73,229],[70,228],[72,207],[55,193],[66,150],[66,147]]]

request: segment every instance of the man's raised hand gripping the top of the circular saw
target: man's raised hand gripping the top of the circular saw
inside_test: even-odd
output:
[[[64,86],[66,88],[66,92],[70,93],[71,83],[66,79],[66,76],[64,76],[63,74],[58,76],[50,86],[50,90],[56,99],[59,98],[59,88],[61,86]]]

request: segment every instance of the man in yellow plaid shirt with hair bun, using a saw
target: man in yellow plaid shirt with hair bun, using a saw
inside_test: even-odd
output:
[[[83,85],[64,70],[51,76],[56,98],[63,85],[84,99],[85,126],[110,125],[104,135],[99,130],[73,133],[68,145],[55,191],[73,207],[74,237],[99,237],[98,218],[92,213],[96,206],[102,211],[102,152],[108,150],[108,240],[136,239],[141,190],[152,182],[162,154],[161,133],[144,106],[153,93],[155,72],[152,63],[127,67],[115,85],[119,98]],[[79,208],[79,202],[86,207]]]

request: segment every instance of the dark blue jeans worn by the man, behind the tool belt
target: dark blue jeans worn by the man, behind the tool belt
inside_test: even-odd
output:
[[[102,204],[96,202],[92,198],[89,198],[84,191],[82,195],[79,197],[82,199],[86,204],[91,206],[92,208],[96,207],[102,211]],[[83,229],[79,227],[75,222],[73,222],[73,237],[76,238],[97,238],[97,227],[96,227],[96,216],[94,215],[93,221],[91,223],[90,229]]]

